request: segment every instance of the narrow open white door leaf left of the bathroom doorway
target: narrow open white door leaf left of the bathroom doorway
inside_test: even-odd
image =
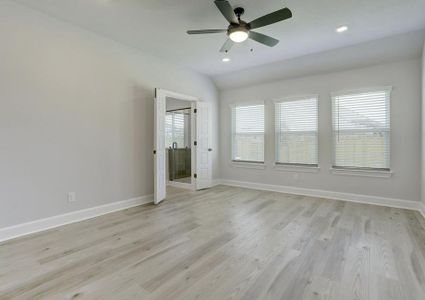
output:
[[[160,89],[155,89],[154,102],[154,203],[158,204],[165,199],[167,188],[165,178],[166,97]]]

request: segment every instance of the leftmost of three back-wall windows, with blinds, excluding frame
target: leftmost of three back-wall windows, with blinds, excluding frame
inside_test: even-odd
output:
[[[232,109],[232,160],[264,162],[264,105]]]

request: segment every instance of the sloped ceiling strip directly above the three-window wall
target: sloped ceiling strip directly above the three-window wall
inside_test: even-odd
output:
[[[214,75],[212,79],[216,86],[223,90],[294,77],[364,68],[406,59],[420,59],[424,40],[424,29],[411,31],[370,42]]]

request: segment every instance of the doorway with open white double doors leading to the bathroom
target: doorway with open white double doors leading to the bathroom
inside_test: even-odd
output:
[[[199,190],[212,185],[211,110],[197,97],[155,89],[154,203],[167,185]]]

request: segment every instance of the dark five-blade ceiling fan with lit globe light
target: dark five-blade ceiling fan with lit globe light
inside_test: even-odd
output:
[[[217,8],[222,15],[229,21],[230,25],[227,29],[201,29],[188,30],[188,34],[206,34],[227,32],[228,39],[221,47],[220,52],[228,52],[234,43],[242,43],[247,38],[253,39],[261,44],[269,47],[276,46],[279,40],[274,39],[262,33],[252,31],[252,29],[267,26],[276,22],[280,22],[292,17],[292,12],[288,8],[282,8],[265,16],[255,19],[249,23],[241,20],[241,16],[245,12],[242,7],[232,8],[229,1],[215,0]]]

